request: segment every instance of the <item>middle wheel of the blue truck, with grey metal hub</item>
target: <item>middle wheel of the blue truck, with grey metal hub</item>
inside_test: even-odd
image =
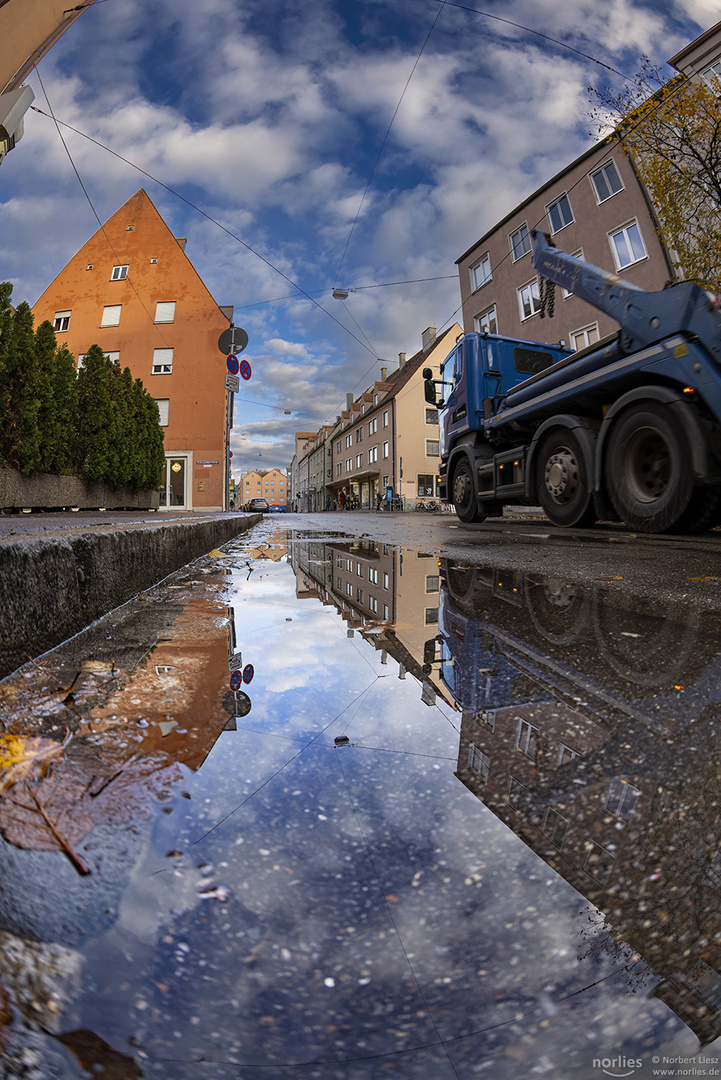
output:
[[[539,501],[554,525],[593,525],[596,511],[586,462],[575,435],[558,428],[547,435],[538,458],[535,486]]]

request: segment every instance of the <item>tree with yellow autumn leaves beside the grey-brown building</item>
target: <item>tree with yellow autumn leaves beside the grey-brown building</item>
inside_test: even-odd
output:
[[[651,197],[676,269],[721,293],[721,80],[666,82],[644,57],[621,93],[590,92],[594,119],[615,129]]]

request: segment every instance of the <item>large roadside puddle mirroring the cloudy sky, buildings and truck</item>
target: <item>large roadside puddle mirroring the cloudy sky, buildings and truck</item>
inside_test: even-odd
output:
[[[71,769],[92,868],[0,846],[45,1075],[645,1077],[710,1043],[721,643],[610,590],[266,523],[5,680],[73,731],[38,791]]]

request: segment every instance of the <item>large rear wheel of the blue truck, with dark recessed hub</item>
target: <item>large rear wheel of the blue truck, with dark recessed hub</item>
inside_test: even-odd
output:
[[[693,495],[690,451],[681,424],[664,405],[627,409],[609,436],[606,478],[622,521],[638,532],[667,532]]]

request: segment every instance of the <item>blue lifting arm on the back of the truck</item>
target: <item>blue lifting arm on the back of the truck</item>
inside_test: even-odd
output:
[[[616,274],[560,252],[545,232],[534,229],[531,239],[536,272],[615,319],[621,324],[626,352],[674,334],[685,334],[700,341],[721,367],[719,301],[699,285],[681,282],[647,293]]]

